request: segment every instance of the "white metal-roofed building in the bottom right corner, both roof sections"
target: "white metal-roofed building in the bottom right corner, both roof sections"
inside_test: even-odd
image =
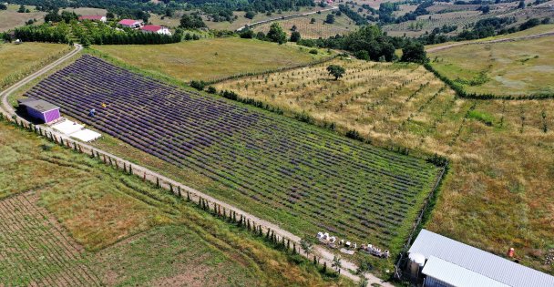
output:
[[[554,276],[431,231],[422,230],[408,252],[425,256],[426,285],[554,286]]]

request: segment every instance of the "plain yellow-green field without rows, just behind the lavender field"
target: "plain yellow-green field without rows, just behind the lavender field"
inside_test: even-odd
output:
[[[240,38],[200,39],[163,46],[94,46],[94,49],[130,66],[182,81],[292,67],[330,56],[324,50],[313,55],[305,47]]]

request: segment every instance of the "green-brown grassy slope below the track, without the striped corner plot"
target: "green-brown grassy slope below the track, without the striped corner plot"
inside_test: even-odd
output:
[[[4,122],[0,147],[1,198],[35,190],[39,204],[88,250],[84,261],[108,285],[348,284],[323,282],[312,264],[296,265],[250,233],[167,191]],[[129,238],[133,234],[138,235]],[[18,255],[5,251],[3,256]],[[0,262],[1,270],[7,262]],[[37,272],[52,271],[41,268]],[[11,285],[25,276],[34,275],[21,273],[0,283]]]

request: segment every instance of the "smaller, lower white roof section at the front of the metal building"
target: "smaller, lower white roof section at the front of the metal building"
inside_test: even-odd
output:
[[[422,273],[457,287],[508,287],[507,284],[490,279],[487,276],[472,272],[435,256],[431,256],[427,260]]]

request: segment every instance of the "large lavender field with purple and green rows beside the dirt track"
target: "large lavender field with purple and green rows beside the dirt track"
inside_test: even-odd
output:
[[[99,71],[105,78],[93,76]],[[65,92],[53,93],[60,87]],[[423,159],[185,92],[93,56],[27,95],[194,175],[190,186],[303,236],[326,230],[398,251],[438,174]],[[108,108],[98,108],[102,102]],[[97,116],[89,118],[92,107]]]

